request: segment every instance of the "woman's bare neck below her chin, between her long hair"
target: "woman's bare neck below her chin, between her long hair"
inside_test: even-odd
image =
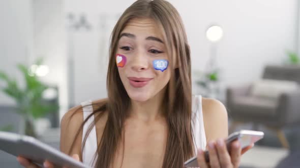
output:
[[[153,98],[144,101],[131,100],[129,117],[143,121],[154,121],[163,117],[165,89]]]

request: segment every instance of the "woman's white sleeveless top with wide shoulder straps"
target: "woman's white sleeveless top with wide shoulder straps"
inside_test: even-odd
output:
[[[87,118],[89,114],[93,112],[92,101],[82,102],[81,106],[83,107],[83,120]],[[82,141],[84,140],[85,134],[88,130],[88,127],[91,123],[94,122],[94,115],[91,116],[86,123],[83,125],[83,134]],[[203,115],[202,115],[202,101],[200,95],[193,95],[192,99],[192,129],[194,134],[194,145],[195,149],[205,149],[206,147],[206,137],[203,123]],[[83,142],[82,142],[83,143]],[[97,135],[95,126],[89,133],[85,147],[82,151],[82,161],[86,165],[94,167],[96,164],[96,160],[94,158],[98,158],[97,154]],[[83,145],[82,145],[83,146]],[[197,151],[194,151],[195,155]]]

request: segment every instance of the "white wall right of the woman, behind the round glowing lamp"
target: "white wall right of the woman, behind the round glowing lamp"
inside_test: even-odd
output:
[[[217,56],[225,85],[256,80],[264,65],[281,64],[285,50],[295,50],[296,0],[174,1],[173,4],[187,28],[194,70],[203,70],[209,56],[206,28],[212,23],[223,27]]]

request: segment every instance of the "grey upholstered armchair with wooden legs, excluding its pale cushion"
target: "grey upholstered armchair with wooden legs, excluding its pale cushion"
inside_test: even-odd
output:
[[[264,68],[262,79],[288,80],[300,83],[300,66],[268,65]],[[300,124],[300,90],[281,93],[277,99],[253,96],[253,83],[226,90],[228,116],[233,121],[229,132],[234,131],[239,123],[252,122],[276,132],[281,144],[289,148],[289,143],[282,131],[284,127]]]

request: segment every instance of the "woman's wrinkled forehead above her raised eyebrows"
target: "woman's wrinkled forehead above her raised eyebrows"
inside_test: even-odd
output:
[[[131,19],[121,33],[132,33],[136,36],[156,36],[162,38],[162,31],[158,24],[149,18]]]

